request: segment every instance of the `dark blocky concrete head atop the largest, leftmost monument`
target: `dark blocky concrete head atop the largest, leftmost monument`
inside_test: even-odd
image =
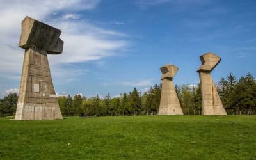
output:
[[[59,38],[60,34],[59,29],[26,16],[22,20],[19,47],[36,47],[47,51],[47,54],[61,54],[64,42]]]

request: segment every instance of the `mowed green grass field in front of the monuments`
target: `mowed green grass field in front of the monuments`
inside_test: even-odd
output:
[[[256,159],[256,116],[0,118],[0,159]]]

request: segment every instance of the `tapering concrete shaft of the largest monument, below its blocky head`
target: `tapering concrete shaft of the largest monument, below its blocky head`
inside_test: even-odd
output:
[[[47,53],[26,49],[15,120],[62,119]]]

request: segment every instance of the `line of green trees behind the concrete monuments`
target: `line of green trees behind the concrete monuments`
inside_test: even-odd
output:
[[[256,81],[252,74],[236,79],[230,72],[222,77],[216,88],[224,108],[229,115],[256,114]],[[200,115],[202,110],[200,84],[196,86],[175,86],[184,115]],[[13,115],[17,106],[17,94],[13,93],[0,100],[0,116]],[[118,97],[107,94],[104,98],[58,97],[63,116],[131,116],[157,115],[161,99],[161,83],[147,92],[134,88],[132,92],[121,93]]]

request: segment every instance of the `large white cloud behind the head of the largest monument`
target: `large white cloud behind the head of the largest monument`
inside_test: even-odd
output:
[[[9,0],[1,1],[0,6],[0,73],[8,77],[21,74],[24,49],[18,47],[21,22],[29,15],[36,20],[46,22],[62,30],[61,39],[64,41],[63,53],[50,55],[49,65],[52,76],[68,81],[77,79],[84,74],[81,69],[63,68],[68,63],[100,60],[114,56],[117,51],[127,47],[124,33],[100,28],[79,19],[76,13],[81,10],[92,10],[99,0]],[[72,72],[76,72],[74,74]],[[70,75],[71,74],[71,75]],[[72,77],[72,78],[70,78]]]

